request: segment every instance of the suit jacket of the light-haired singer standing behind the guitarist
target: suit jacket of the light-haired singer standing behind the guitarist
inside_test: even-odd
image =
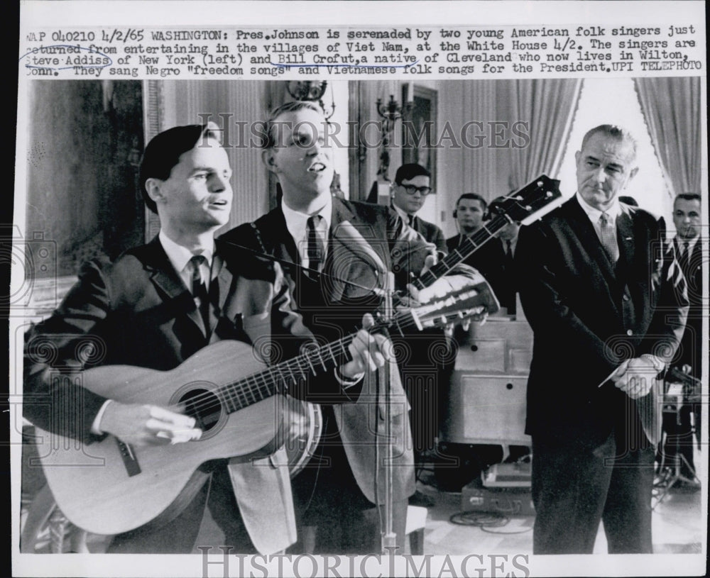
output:
[[[288,262],[300,260],[293,238],[286,228],[280,209],[229,231],[222,240],[263,251]],[[297,302],[294,309],[306,318],[315,335],[330,338],[334,333],[350,333],[361,323],[363,313],[373,311],[379,298],[373,289],[382,286],[378,269],[395,272],[398,287],[410,281],[410,272],[418,273],[425,257],[435,251],[415,230],[407,226],[391,208],[375,204],[333,199],[332,221],[327,258],[320,284],[312,291],[322,291],[317,299],[304,295],[298,284],[305,284],[297,270],[286,272]],[[340,282],[346,279],[359,287]],[[315,302],[316,306],[310,304]],[[309,321],[310,320],[310,321]],[[408,404],[399,379],[393,383],[393,450],[395,467],[393,496],[403,499],[415,491],[413,455],[410,443]],[[382,409],[376,403],[373,374],[366,374],[362,392],[355,403],[343,404],[335,413],[344,450],[364,496],[373,504],[384,498],[384,469],[379,467],[378,495],[375,489],[376,430],[382,433]],[[381,439],[381,438],[379,438]],[[382,450],[382,443],[379,442]],[[380,460],[381,463],[381,460]]]

